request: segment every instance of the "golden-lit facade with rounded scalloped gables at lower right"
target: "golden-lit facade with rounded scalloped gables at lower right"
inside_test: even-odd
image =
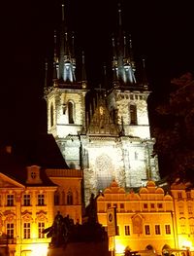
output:
[[[97,199],[97,214],[99,223],[107,227],[107,209],[116,207],[116,253],[123,253],[127,246],[141,255],[161,255],[165,248],[192,251],[194,190],[185,189],[183,184],[174,184],[165,193],[153,181],[148,181],[139,192],[126,193],[113,181]],[[112,238],[110,246],[113,246]]]

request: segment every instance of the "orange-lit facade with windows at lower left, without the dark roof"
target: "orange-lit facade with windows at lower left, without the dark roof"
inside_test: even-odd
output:
[[[0,172],[0,254],[46,256],[50,238],[42,231],[58,210],[81,223],[81,171],[32,165],[10,172]]]

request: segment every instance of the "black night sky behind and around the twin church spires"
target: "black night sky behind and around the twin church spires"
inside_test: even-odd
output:
[[[101,82],[103,63],[111,61],[117,1],[66,2],[68,26],[75,31],[78,54],[85,52],[87,78],[94,87]],[[171,78],[193,70],[192,8],[186,1],[171,1],[170,6],[165,1],[123,0],[121,9],[137,64],[146,58],[147,79],[157,98],[168,91]],[[44,67],[53,53],[60,1],[9,2],[3,18],[0,131],[6,140],[47,131]]]

